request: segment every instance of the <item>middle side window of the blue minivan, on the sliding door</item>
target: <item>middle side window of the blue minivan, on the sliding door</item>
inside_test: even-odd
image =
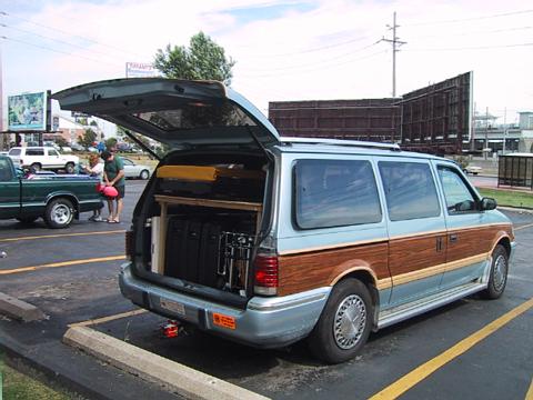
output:
[[[379,167],[391,221],[440,216],[441,207],[429,164],[380,161]]]

